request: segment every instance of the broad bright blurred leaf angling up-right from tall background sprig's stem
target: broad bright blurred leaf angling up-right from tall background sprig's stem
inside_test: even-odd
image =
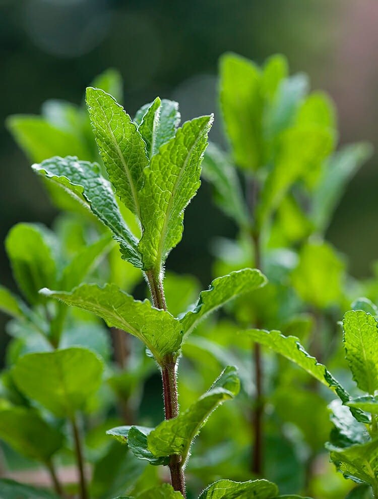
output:
[[[267,176],[257,206],[258,227],[276,210],[289,188],[332,151],[334,135],[319,125],[302,125],[282,132],[274,167]]]

